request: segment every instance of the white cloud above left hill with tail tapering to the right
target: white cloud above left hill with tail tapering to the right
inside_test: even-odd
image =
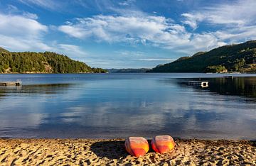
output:
[[[36,15],[0,13],[0,47],[11,51],[53,51],[77,60],[85,57],[85,51],[77,45],[58,43],[58,41],[46,43],[45,35],[49,28],[36,21],[36,18]],[[54,27],[50,29],[55,31]]]

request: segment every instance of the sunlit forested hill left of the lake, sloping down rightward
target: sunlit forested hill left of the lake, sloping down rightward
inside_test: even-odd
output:
[[[107,72],[55,52],[9,52],[0,48],[0,73]]]

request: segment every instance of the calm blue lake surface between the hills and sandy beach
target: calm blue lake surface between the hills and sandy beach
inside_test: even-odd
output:
[[[256,74],[0,74],[0,138],[256,139]],[[230,74],[227,74],[230,75]],[[209,87],[183,82],[207,80]]]

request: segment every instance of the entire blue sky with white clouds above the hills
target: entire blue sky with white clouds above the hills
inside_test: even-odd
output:
[[[0,47],[154,67],[256,39],[255,0],[0,0]]]

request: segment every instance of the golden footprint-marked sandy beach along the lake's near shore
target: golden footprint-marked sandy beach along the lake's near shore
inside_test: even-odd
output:
[[[173,153],[137,158],[124,139],[0,139],[0,165],[256,165],[252,141],[175,141]]]

